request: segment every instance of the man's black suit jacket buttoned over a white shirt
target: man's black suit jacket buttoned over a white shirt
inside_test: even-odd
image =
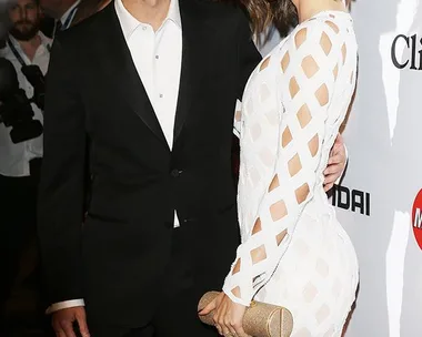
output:
[[[42,259],[51,303],[84,298],[98,319],[139,326],[164,290],[189,284],[199,293],[221,289],[239,244],[233,113],[260,54],[239,8],[180,0],[180,11],[172,151],[113,3],[53,43],[39,203]],[[82,226],[88,140],[92,195]]]

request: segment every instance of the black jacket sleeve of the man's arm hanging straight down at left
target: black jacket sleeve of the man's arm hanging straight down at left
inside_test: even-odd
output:
[[[81,229],[84,196],[84,110],[77,58],[67,34],[54,41],[46,81],[44,159],[39,238],[50,303],[82,298]]]

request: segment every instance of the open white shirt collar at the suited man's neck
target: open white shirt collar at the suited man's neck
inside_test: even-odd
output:
[[[115,12],[118,14],[120,25],[123,31],[124,39],[129,39],[130,35],[133,33],[133,31],[142,24],[142,22],[138,21],[123,6],[122,0],[115,0],[114,1],[114,8]],[[170,0],[170,7],[169,12],[167,14],[167,18],[164,19],[163,23],[165,21],[173,21],[178,27],[182,27],[182,21],[180,18],[180,8],[179,8],[179,0]]]

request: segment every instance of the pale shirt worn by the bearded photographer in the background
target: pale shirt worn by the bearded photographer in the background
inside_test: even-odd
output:
[[[49,48],[51,40],[41,32],[39,32],[39,35],[41,38],[41,44],[37,49],[32,61],[28,59],[27,54],[20,48],[19,42],[13,39],[13,37],[10,35],[9,39],[26,64],[36,64],[41,69],[42,73],[46,74],[50,60]],[[21,72],[22,64],[11,51],[9,44],[6,44],[6,47],[0,50],[0,57],[8,59],[13,64],[20,88],[23,89],[27,96],[31,99],[33,95],[33,86]],[[31,106],[34,119],[42,123],[43,118],[41,110],[34,103],[32,103]],[[37,139],[13,144],[10,139],[10,130],[11,127],[6,127],[3,123],[0,124],[0,174],[6,176],[28,176],[30,174],[29,161],[36,157],[42,157],[42,135]]]

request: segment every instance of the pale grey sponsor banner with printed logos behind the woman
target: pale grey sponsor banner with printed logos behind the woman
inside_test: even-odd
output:
[[[358,252],[346,337],[422,336],[422,0],[356,0],[349,165],[332,203]],[[261,48],[278,43],[274,34]],[[421,147],[420,147],[421,146]]]

